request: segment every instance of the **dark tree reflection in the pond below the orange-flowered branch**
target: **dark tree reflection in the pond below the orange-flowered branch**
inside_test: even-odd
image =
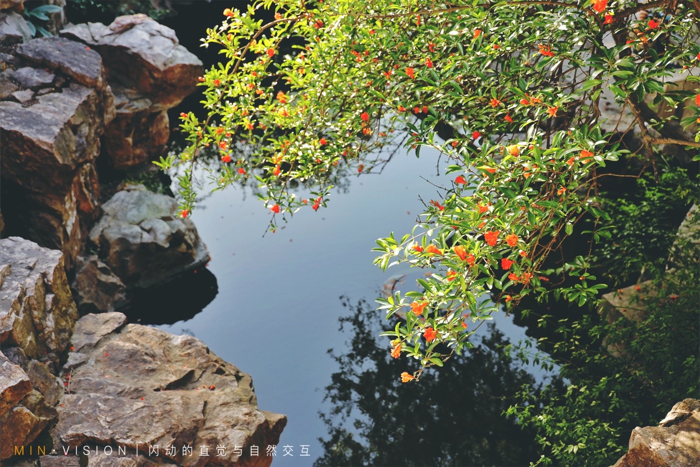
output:
[[[504,355],[504,335],[491,326],[481,342],[454,356],[419,382],[402,383],[418,361],[394,359],[384,316],[365,300],[340,319],[350,328],[349,349],[328,352],[339,365],[326,386],[331,409],[321,418],[329,438],[314,466],[523,466],[538,459],[533,433],[503,411],[515,392],[534,378]]]

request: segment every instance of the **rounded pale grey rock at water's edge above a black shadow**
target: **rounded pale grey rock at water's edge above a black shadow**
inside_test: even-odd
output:
[[[146,288],[204,265],[209,253],[174,198],[130,185],[102,205],[90,231],[98,256],[128,286]]]

